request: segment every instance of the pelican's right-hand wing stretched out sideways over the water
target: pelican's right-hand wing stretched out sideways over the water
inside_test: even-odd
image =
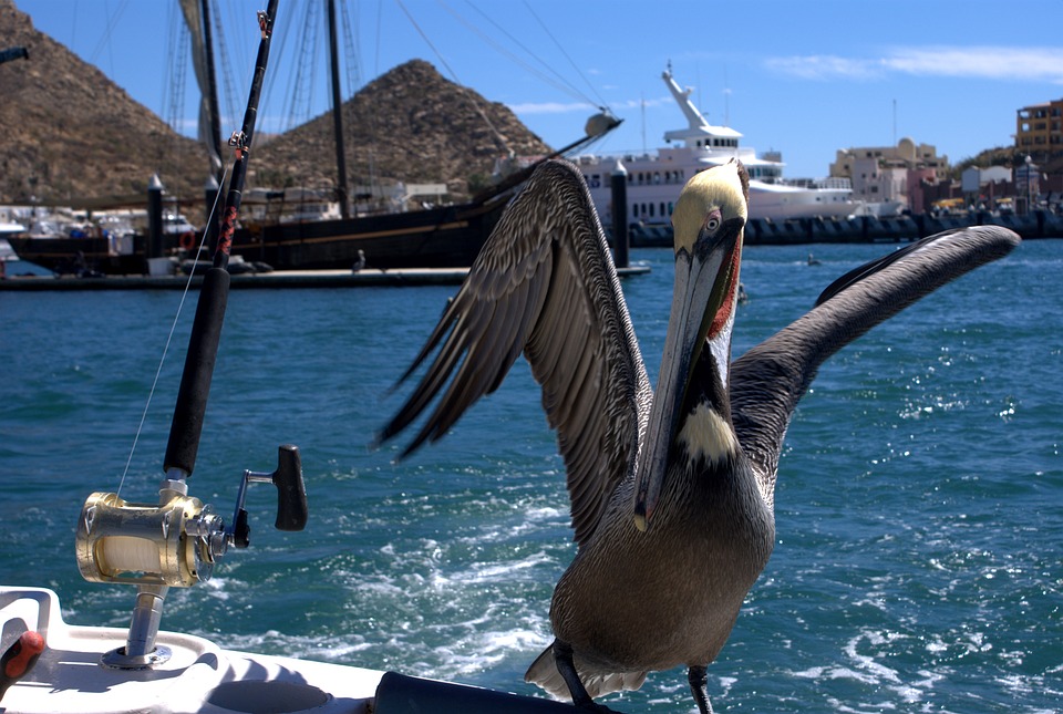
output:
[[[819,365],[873,327],[974,268],[1002,258],[1019,236],[999,226],[950,230],[846,273],[817,307],[731,366],[731,410],[739,443],[772,496],[791,415]]]

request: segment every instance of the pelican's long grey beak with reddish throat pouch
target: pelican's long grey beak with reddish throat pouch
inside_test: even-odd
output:
[[[726,390],[730,334],[722,333],[730,331],[733,319],[746,211],[742,206],[737,216],[726,210],[713,215],[720,217],[718,224],[710,225],[711,218],[704,219],[689,245],[681,244],[677,232],[675,289],[668,335],[636,472],[634,522],[639,530],[646,530],[660,499],[669,456],[683,420],[691,373],[706,343],[715,346],[726,342],[721,348],[723,353],[713,354]],[[679,223],[675,229],[680,230]],[[716,340],[718,337],[724,339]]]

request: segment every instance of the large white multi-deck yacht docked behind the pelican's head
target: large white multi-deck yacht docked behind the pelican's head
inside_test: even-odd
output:
[[[808,218],[813,216],[850,216],[858,213],[847,178],[816,182],[783,179],[781,155],[757,156],[753,148],[742,147],[742,134],[729,126],[714,126],[690,101],[690,90],[675,83],[671,68],[662,75],[664,83],[687,117],[688,126],[664,133],[664,141],[678,146],[661,148],[656,155],[580,156],[576,161],[587,178],[590,195],[605,225],[612,223],[610,177],[618,162],[628,173],[628,219],[652,226],[665,225],[675,198],[691,176],[732,158],[740,159],[750,173],[750,218]]]

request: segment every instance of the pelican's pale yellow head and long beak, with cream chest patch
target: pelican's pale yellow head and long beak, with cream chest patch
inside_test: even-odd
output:
[[[672,444],[691,442],[688,453],[722,458],[735,448],[734,432],[718,408],[704,405],[682,414],[694,366],[709,348],[719,384],[715,399],[726,403],[731,327],[737,303],[739,263],[749,217],[750,179],[732,159],[691,178],[672,213],[675,236],[675,288],[661,358],[661,375],[636,473],[634,520],[644,530],[661,494]],[[685,426],[684,426],[685,424]]]

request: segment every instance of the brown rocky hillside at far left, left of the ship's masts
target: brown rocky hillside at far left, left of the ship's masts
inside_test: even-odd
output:
[[[0,0],[0,42],[29,60],[0,64],[0,201],[203,192],[206,153],[94,66]]]

